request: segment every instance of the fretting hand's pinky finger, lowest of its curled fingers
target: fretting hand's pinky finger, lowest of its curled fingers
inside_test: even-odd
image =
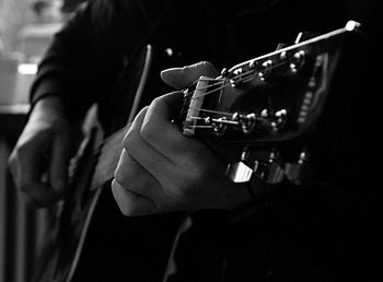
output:
[[[151,200],[126,190],[116,179],[112,181],[112,191],[124,215],[137,216],[158,212],[155,204]]]

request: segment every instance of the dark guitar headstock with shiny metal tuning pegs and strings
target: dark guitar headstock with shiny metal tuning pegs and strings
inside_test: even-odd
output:
[[[303,38],[295,44],[201,77],[184,91],[183,133],[241,144],[229,165],[233,181],[253,175],[267,183],[300,183],[310,136],[323,111],[341,46],[359,24]]]

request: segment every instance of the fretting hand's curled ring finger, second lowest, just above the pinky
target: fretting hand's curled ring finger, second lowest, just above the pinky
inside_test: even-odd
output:
[[[125,149],[119,157],[114,178],[125,189],[149,198],[153,202],[163,198],[161,185]]]

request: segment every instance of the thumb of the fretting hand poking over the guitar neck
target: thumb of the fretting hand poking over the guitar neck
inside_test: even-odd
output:
[[[211,62],[201,61],[184,68],[172,68],[161,72],[161,79],[167,85],[177,90],[189,86],[198,80],[200,75],[216,78],[219,75],[219,71]]]

